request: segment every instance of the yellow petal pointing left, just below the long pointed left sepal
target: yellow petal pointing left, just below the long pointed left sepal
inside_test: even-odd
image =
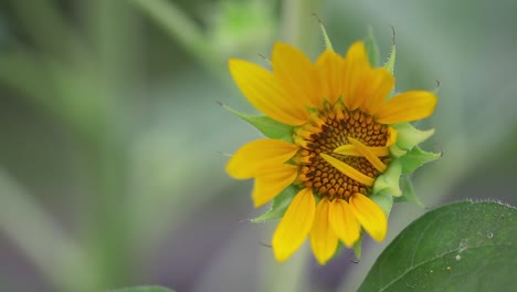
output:
[[[226,165],[226,173],[233,178],[246,179],[256,170],[281,165],[291,159],[297,147],[278,139],[258,139],[242,146]]]

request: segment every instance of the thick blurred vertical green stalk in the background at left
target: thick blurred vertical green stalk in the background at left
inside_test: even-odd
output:
[[[139,80],[140,23],[126,1],[82,3],[93,44],[98,52],[94,67],[83,71],[95,88],[97,111],[89,121],[93,135],[84,142],[91,211],[83,218],[85,240],[103,275],[98,291],[127,284],[133,275],[131,220],[128,210],[127,161],[130,93]]]

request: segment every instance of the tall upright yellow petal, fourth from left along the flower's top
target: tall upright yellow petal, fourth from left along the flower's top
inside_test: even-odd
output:
[[[354,111],[362,103],[357,96],[357,90],[360,85],[363,75],[371,69],[370,61],[366,53],[362,42],[355,42],[348,49],[344,62],[344,83],[342,83],[342,102],[348,109]]]

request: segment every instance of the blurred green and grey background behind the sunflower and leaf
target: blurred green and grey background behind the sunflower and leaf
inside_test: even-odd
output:
[[[224,174],[260,134],[226,60],[263,62],[275,41],[314,58],[316,12],[334,48],[371,25],[381,54],[397,31],[397,87],[441,83],[420,169],[426,208],[395,205],[381,244],[326,267],[300,250],[274,261],[276,222],[251,181]],[[354,291],[414,218],[464,198],[517,205],[517,2],[0,1],[0,291]]]

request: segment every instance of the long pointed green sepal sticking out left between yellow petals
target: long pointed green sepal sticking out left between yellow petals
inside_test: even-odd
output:
[[[245,122],[250,123],[256,129],[258,129],[264,136],[272,139],[283,139],[288,143],[293,143],[293,126],[282,124],[267,116],[253,116],[246,115],[239,111],[231,108],[228,105],[222,105],[225,109],[232,114],[239,116]]]

